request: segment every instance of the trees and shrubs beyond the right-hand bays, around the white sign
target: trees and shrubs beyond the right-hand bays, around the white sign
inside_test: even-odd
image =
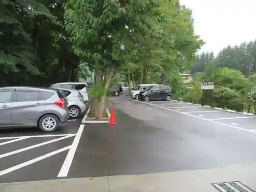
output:
[[[193,89],[183,90],[181,99],[187,102],[209,104],[241,112],[256,112],[256,40],[240,45],[227,46],[216,56],[203,52],[195,56],[190,66]],[[203,95],[202,81],[215,83],[213,95],[209,90]]]

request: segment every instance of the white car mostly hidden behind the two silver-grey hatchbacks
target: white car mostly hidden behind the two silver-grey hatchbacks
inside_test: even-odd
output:
[[[88,101],[88,85],[85,82],[60,82],[53,84],[50,88],[76,89],[78,90],[84,102]]]

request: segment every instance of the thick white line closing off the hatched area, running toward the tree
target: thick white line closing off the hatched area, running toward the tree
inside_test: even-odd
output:
[[[58,177],[67,177],[68,176],[70,166],[72,164],[73,158],[74,158],[75,153],[76,153],[76,148],[77,148],[79,140],[82,136],[83,128],[84,128],[84,124],[81,124],[80,127],[79,127],[79,130],[77,131],[76,137],[75,137],[75,139],[74,139],[74,141],[73,141],[73,143],[70,147],[69,153],[66,156],[66,159],[65,159],[65,161],[63,162],[63,164],[60,168]]]

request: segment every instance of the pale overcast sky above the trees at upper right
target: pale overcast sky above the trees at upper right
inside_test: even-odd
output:
[[[180,0],[192,9],[203,51],[217,54],[227,45],[256,39],[256,0]]]

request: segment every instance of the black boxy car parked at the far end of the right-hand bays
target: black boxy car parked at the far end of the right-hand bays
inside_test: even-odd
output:
[[[149,100],[171,100],[172,99],[172,91],[169,86],[154,86],[151,88],[147,88],[144,91],[140,92],[139,99],[141,101],[149,101]]]

